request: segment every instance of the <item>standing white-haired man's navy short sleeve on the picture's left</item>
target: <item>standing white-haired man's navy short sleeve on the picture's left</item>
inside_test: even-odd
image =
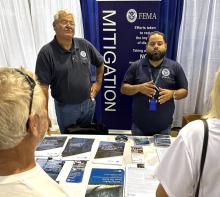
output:
[[[49,58],[49,53],[42,48],[37,57],[35,74],[43,85],[51,84],[52,80],[52,65]]]

